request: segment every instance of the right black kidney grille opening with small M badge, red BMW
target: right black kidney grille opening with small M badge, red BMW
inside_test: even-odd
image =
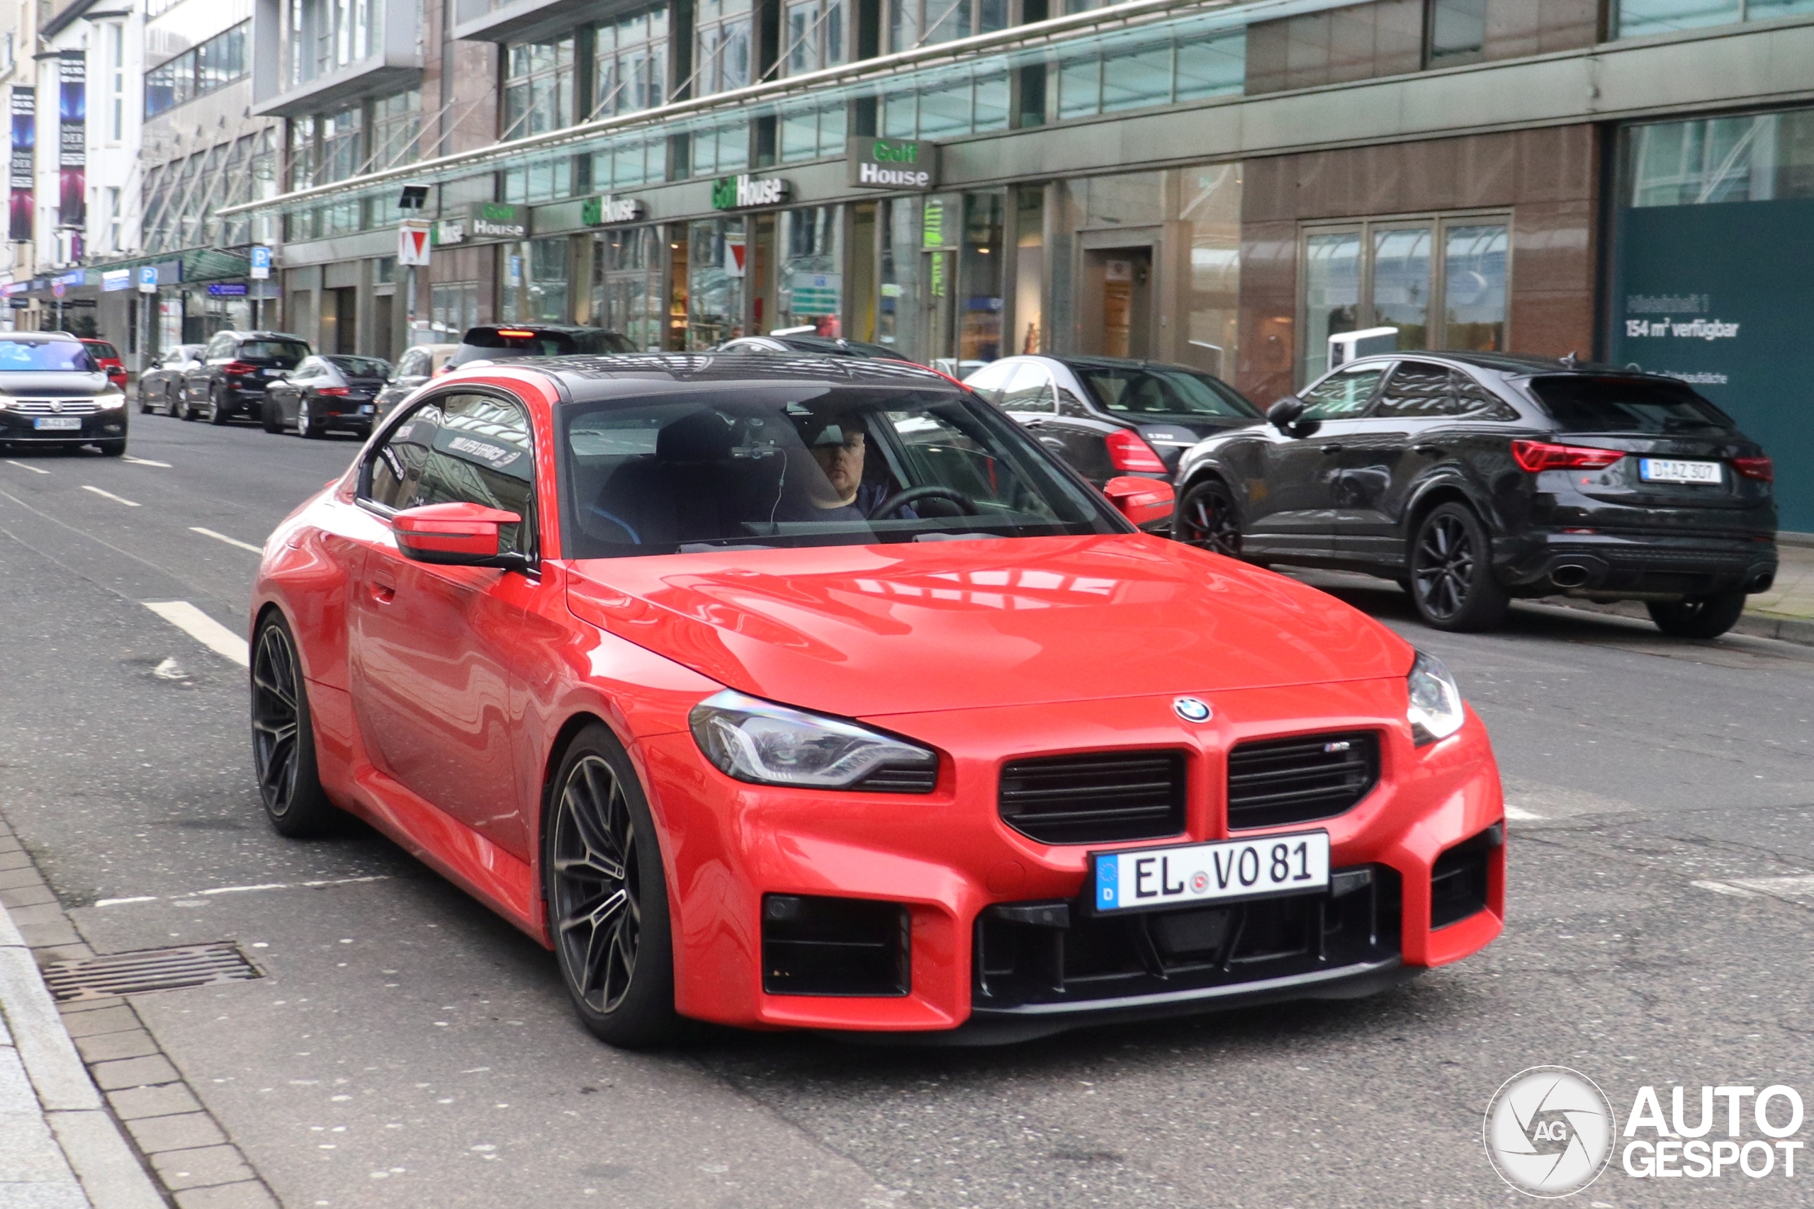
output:
[[[1348,810],[1379,781],[1379,734],[1301,734],[1228,752],[1228,827],[1281,827]]]

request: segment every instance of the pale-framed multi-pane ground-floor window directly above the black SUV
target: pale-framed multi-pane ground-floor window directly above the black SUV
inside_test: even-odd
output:
[[[1399,328],[1399,348],[1506,350],[1511,219],[1458,214],[1313,227],[1302,234],[1301,381],[1328,339]]]

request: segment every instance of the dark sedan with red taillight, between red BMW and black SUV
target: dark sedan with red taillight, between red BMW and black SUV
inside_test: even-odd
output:
[[[1003,357],[965,386],[1097,488],[1117,475],[1172,480],[1185,450],[1261,419],[1219,377],[1159,361]]]

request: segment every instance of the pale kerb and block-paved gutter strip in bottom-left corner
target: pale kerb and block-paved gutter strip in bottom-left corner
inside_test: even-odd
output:
[[[4,816],[0,852],[24,854]],[[56,895],[25,856],[25,865],[0,872],[0,1138],[9,1118],[18,1120],[47,1149],[34,1158],[53,1173],[74,1171],[60,1184],[13,1182],[0,1146],[0,1209],[169,1209],[172,1202],[176,1209],[278,1209],[131,1001],[51,999],[40,962],[94,957],[94,950],[62,906],[44,910]],[[15,921],[20,910],[31,923]],[[207,1173],[183,1162],[176,1175],[178,1151],[218,1158]]]

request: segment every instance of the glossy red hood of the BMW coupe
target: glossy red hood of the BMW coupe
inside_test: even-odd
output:
[[[911,714],[1402,676],[1313,587],[1150,535],[568,564],[570,609],[753,696]]]

